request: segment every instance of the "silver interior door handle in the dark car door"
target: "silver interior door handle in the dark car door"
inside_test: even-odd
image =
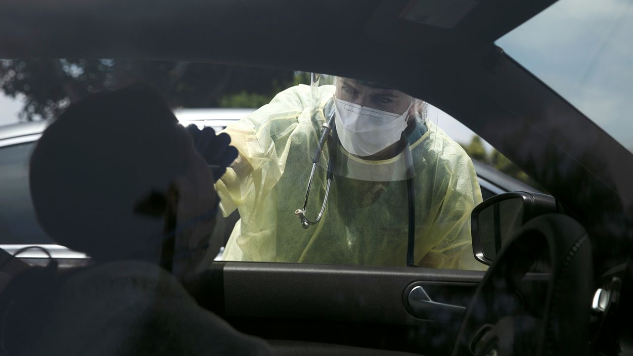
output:
[[[464,319],[466,307],[433,302],[422,286],[416,286],[407,298],[413,316],[436,321],[460,321]]]

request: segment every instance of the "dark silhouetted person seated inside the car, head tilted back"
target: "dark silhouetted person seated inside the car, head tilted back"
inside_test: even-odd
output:
[[[16,277],[3,295],[5,350],[268,355],[263,341],[199,307],[180,284],[222,244],[211,238],[215,179],[153,92],[128,87],[71,105],[37,143],[30,188],[44,231],[95,264]]]

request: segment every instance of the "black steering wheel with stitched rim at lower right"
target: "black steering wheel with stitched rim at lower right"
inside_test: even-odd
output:
[[[530,220],[501,250],[475,291],[453,355],[586,353],[594,283],[591,258],[587,232],[576,220],[561,214]],[[535,286],[539,278],[544,280],[542,293],[530,289],[532,307],[526,308],[520,284],[543,259],[549,274],[530,276]]]

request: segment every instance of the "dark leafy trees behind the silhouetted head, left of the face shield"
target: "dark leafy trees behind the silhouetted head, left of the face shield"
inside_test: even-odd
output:
[[[0,61],[0,89],[25,98],[22,120],[54,117],[92,92],[135,83],[160,92],[174,108],[201,108],[258,107],[298,82],[306,82],[304,73],[182,61]]]

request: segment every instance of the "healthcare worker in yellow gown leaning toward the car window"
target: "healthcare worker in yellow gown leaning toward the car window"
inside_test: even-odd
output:
[[[223,259],[482,269],[470,239],[482,198],[465,151],[421,100],[323,78],[224,131],[239,156],[216,190],[223,214],[241,219]]]

